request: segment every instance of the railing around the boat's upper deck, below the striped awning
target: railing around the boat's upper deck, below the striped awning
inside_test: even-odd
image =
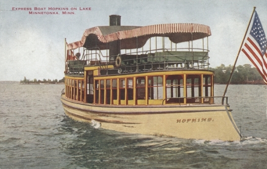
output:
[[[99,66],[101,74],[122,74],[171,69],[205,69],[209,67],[209,50],[201,48],[159,48],[103,55],[99,48],[83,51],[79,60],[68,61],[68,74],[83,74],[85,66]],[[111,61],[110,58],[115,58]],[[108,69],[108,65],[114,68]]]

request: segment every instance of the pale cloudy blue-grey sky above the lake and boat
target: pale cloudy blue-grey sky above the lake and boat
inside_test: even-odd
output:
[[[267,32],[267,0],[0,0],[0,81],[62,79],[64,39],[80,41],[86,29],[109,25],[112,14],[129,26],[208,25],[210,66],[233,65],[254,6]],[[244,64],[252,65],[241,52],[237,65]]]

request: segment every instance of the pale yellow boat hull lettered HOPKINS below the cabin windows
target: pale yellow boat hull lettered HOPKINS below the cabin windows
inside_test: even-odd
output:
[[[241,138],[229,106],[225,105],[94,105],[77,103],[64,95],[61,101],[69,117],[98,122],[105,129],[185,139],[237,141]]]

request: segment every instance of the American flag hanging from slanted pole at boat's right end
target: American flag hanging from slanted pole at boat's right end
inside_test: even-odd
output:
[[[253,25],[242,51],[258,69],[267,84],[267,40],[260,18],[255,11]]]

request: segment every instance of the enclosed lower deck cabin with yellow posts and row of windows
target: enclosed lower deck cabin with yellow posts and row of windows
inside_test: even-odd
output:
[[[207,70],[65,76],[67,98],[99,105],[213,104],[214,74]]]

